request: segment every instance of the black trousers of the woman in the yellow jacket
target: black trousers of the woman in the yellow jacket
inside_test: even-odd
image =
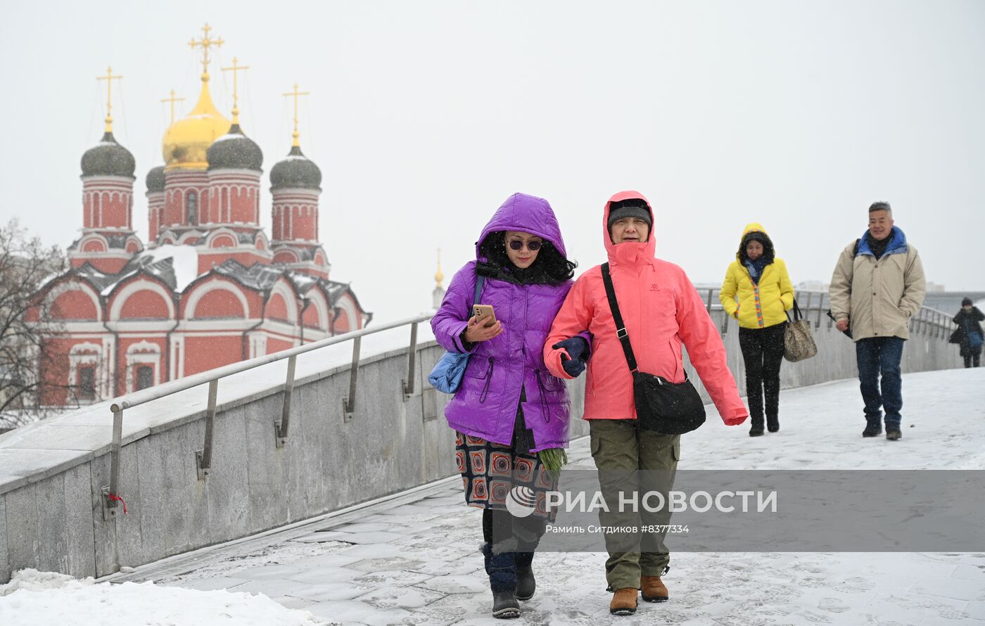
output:
[[[767,419],[780,414],[780,363],[787,323],[766,328],[740,328],[739,346],[746,362],[746,397],[752,422],[762,424],[763,397]],[[761,425],[760,425],[761,428]]]

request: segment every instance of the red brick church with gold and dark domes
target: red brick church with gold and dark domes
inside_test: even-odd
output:
[[[296,112],[293,146],[270,170],[271,236],[260,226],[263,152],[239,125],[235,88],[231,120],[213,103],[209,48],[223,41],[204,31],[193,40],[203,53],[198,101],[167,128],[164,164],[145,179],[146,244],[133,226],[136,162],[113,137],[107,90],[105,133],[82,156],[71,267],[34,294],[59,329],[41,405],[121,396],[369,322],[350,285],[329,280],[321,170],[301,152]],[[39,324],[40,310],[29,312]]]

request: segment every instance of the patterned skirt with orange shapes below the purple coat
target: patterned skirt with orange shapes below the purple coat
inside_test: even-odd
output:
[[[558,480],[541,463],[537,453],[516,452],[512,446],[455,432],[455,463],[462,474],[466,504],[483,509],[507,510],[515,517],[531,514],[554,521],[547,492]]]

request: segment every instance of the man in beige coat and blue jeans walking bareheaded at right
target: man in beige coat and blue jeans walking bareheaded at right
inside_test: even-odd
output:
[[[916,248],[892,225],[889,203],[869,207],[869,229],[842,250],[828,294],[838,330],[850,330],[855,341],[865,402],[862,436],[882,434],[885,409],[886,439],[896,441],[902,437],[899,362],[910,336],[910,316],[923,306],[927,284]]]

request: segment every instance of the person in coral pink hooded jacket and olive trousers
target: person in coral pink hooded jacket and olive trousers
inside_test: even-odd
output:
[[[624,191],[606,203],[603,242],[639,370],[682,383],[682,354],[683,347],[687,347],[690,362],[722,420],[730,426],[741,424],[749,411],[729,371],[718,330],[684,270],[654,258],[656,242],[652,230],[653,211],[642,194]],[[565,349],[570,343],[558,344],[585,331],[592,335],[592,357],[587,363],[584,418],[589,420],[592,457],[600,470],[603,490],[611,493],[603,470],[640,469],[666,472],[671,483],[662,486],[669,489],[680,458],[680,435],[660,434],[638,426],[632,375],[616,335],[601,266],[578,278],[558,311],[544,347],[544,362],[552,374],[571,378],[562,366],[570,358]],[[613,508],[600,513],[599,520],[604,527],[638,528],[641,524],[666,525],[669,516],[646,511],[623,513]],[[670,569],[670,553],[663,535],[641,535],[644,549],[635,553],[614,549],[609,535],[606,539],[610,553],[606,580],[610,591],[615,592],[610,612],[635,612],[639,589],[647,601],[668,598],[667,588],[660,580]]]

